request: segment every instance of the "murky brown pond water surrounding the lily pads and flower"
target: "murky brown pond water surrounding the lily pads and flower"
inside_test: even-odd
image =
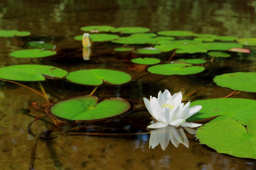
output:
[[[40,95],[9,82],[0,82],[0,152],[1,169],[28,169],[31,153],[36,150],[35,169],[255,169],[255,160],[247,160],[220,154],[186,133],[189,148],[169,143],[166,150],[160,145],[148,148],[149,134],[146,126],[150,114],[144,107],[143,97],[157,96],[168,89],[171,94],[196,90],[192,100],[224,97],[233,92],[217,86],[212,78],[223,73],[255,71],[255,47],[251,54],[237,53],[230,58],[207,58],[207,69],[188,76],[162,76],[146,71],[128,69],[131,58],[143,55],[113,52],[120,44],[94,43],[90,60],[83,60],[81,42],[73,39],[81,35],[80,27],[87,25],[112,25],[148,27],[152,32],[161,30],[187,30],[195,33],[255,37],[256,3],[241,0],[48,0],[48,1],[0,1],[0,29],[30,31],[28,37],[1,38],[1,66],[17,64],[53,65],[75,71],[79,69],[105,68],[124,71],[131,75],[132,83],[123,86],[104,84],[95,92],[100,97],[122,97],[135,103],[135,112],[107,122],[90,123],[85,132],[48,135],[51,140],[38,140],[27,132],[28,124],[43,113],[31,103],[46,103]],[[17,59],[9,56],[14,50],[23,49],[28,41],[45,41],[57,45],[55,57]],[[167,60],[172,53],[158,55]],[[233,53],[232,53],[233,54]],[[157,56],[157,55],[155,55]],[[205,54],[176,55],[174,58],[201,58]],[[40,91],[38,83],[23,83]],[[64,80],[43,82],[53,101],[75,95],[90,94],[92,86],[68,83]],[[236,98],[255,99],[255,93],[241,92]],[[29,109],[30,115],[19,112]],[[46,120],[51,121],[50,118]],[[54,129],[38,120],[31,126],[34,134]],[[79,131],[80,132],[80,131]],[[116,135],[108,135],[115,133]],[[138,133],[132,135],[130,133]]]

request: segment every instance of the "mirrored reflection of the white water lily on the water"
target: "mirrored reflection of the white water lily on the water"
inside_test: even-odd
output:
[[[196,132],[194,129],[184,128],[191,134],[195,134]],[[189,147],[189,141],[183,128],[168,125],[150,132],[149,148],[151,146],[154,149],[160,143],[162,150],[165,150],[170,141],[176,148],[180,143],[187,148]]]

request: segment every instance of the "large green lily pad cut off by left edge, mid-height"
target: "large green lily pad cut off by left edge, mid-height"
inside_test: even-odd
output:
[[[49,65],[22,64],[0,68],[0,78],[15,81],[44,81],[45,76],[63,78],[67,71]]]

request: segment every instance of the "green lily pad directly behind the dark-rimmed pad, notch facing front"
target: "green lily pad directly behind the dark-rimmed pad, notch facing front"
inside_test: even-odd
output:
[[[74,83],[94,86],[102,84],[103,81],[110,84],[123,84],[131,80],[131,76],[127,73],[108,69],[84,69],[72,71],[66,78]]]

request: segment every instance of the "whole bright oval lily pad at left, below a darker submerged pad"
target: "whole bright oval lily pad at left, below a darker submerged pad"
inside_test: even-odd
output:
[[[53,56],[56,51],[43,50],[43,49],[26,49],[26,50],[16,50],[10,53],[10,56],[15,58],[41,58]]]

